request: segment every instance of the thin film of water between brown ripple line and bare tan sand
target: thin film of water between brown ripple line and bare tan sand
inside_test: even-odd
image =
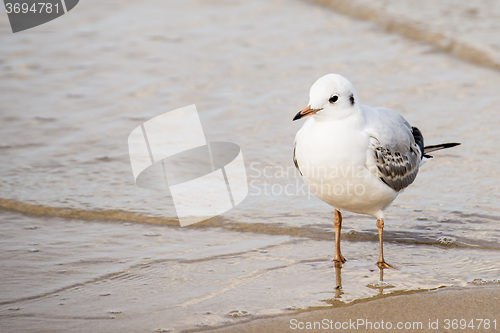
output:
[[[498,284],[488,250],[377,243],[2,212],[0,323],[6,331],[202,329],[442,286]],[[395,258],[395,259],[396,259]],[[341,286],[341,288],[337,288]]]

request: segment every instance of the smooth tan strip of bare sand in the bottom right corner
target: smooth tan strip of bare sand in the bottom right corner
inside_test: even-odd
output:
[[[256,318],[245,323],[203,331],[375,332],[398,329],[397,325],[401,323],[401,325],[412,325],[404,328],[418,332],[453,330],[456,325],[458,325],[456,329],[465,326],[474,332],[496,332],[500,329],[497,311],[499,300],[498,285],[444,287],[421,292],[409,291],[402,295],[385,295],[329,309],[313,309],[292,315]]]

